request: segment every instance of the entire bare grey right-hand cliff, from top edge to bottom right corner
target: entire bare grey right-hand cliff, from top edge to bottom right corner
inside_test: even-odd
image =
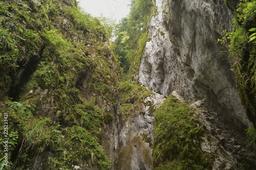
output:
[[[201,149],[219,153],[214,169],[253,169],[255,155],[246,149],[244,134],[251,122],[241,104],[231,64],[221,53],[226,47],[217,43],[222,30],[231,31],[233,14],[219,0],[156,0],[156,9],[139,82],[165,96],[175,90],[186,102],[200,101],[197,109],[203,111],[197,116],[213,142],[209,144],[207,139],[207,147],[204,143]],[[230,165],[223,166],[227,162]]]

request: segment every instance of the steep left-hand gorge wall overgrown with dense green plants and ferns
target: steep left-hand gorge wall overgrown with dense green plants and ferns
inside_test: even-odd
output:
[[[101,129],[116,108],[119,68],[99,19],[56,0],[4,1],[0,14],[1,94],[13,98],[1,103],[9,113],[5,169],[37,168],[35,161],[44,169],[109,169]]]

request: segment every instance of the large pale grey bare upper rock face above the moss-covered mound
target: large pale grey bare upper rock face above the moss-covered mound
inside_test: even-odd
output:
[[[217,43],[232,28],[232,14],[223,1],[157,0],[150,21],[139,81],[168,95],[176,90],[186,101],[207,99],[237,126],[249,120],[236,91],[230,63]]]

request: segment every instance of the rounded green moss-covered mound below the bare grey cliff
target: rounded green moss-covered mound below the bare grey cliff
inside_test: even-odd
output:
[[[201,150],[205,130],[185,104],[169,95],[156,110],[153,161],[155,169],[211,169],[215,155]]]

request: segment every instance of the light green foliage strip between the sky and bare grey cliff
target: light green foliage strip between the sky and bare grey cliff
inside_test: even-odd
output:
[[[115,51],[119,56],[122,77],[128,78],[138,71],[141,51],[145,46],[141,42],[147,39],[148,20],[154,11],[151,0],[133,0],[130,6],[129,17],[122,18],[117,27],[118,33],[115,40]],[[143,43],[145,42],[143,41]],[[136,53],[136,51],[140,52]],[[127,72],[129,72],[128,75]]]

